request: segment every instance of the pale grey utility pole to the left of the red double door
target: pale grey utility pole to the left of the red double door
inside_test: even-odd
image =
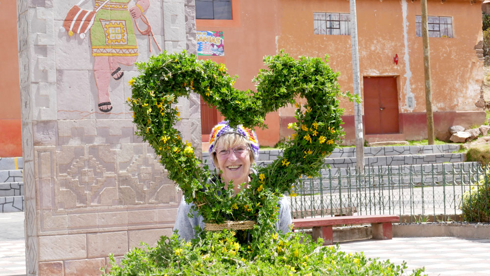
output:
[[[361,79],[359,76],[359,50],[357,45],[356,0],[350,0],[350,39],[352,41],[352,80],[354,95],[361,98]],[[364,135],[361,103],[354,102],[354,128],[356,133],[356,168],[364,174]]]

